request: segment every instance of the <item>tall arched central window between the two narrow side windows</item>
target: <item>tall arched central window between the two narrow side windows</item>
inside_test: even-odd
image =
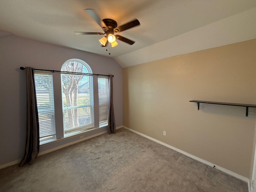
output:
[[[90,66],[79,59],[67,60],[61,68],[64,136],[93,128],[93,78]]]

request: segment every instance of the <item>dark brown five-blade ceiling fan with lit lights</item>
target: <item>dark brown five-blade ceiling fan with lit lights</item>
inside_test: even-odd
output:
[[[77,35],[105,35],[103,38],[101,38],[99,41],[102,44],[102,47],[108,46],[108,43],[111,44],[112,47],[117,46],[118,43],[116,42],[116,39],[123,41],[125,43],[128,43],[130,45],[134,44],[135,41],[132,41],[128,38],[125,38],[120,35],[114,35],[114,33],[119,33],[124,30],[128,30],[130,28],[133,28],[135,26],[140,25],[140,22],[138,19],[132,20],[126,24],[123,24],[121,26],[117,26],[117,22],[113,19],[103,19],[101,20],[96,14],[96,12],[93,9],[85,9],[85,11],[101,26],[102,32],[75,32]]]

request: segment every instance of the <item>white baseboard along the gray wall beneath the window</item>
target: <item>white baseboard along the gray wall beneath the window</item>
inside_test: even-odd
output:
[[[116,127],[116,129],[120,129],[120,128],[122,128],[122,127],[123,127],[123,126],[118,126],[118,127]],[[79,142],[82,142],[82,141],[85,141],[85,140],[88,140],[88,139],[90,139],[90,138],[94,138],[94,137],[96,137],[96,136],[103,135],[103,134],[105,134],[105,133],[107,133],[107,132],[108,132],[108,131],[103,131],[103,132],[100,132],[100,133],[97,133],[97,134],[94,134],[94,135],[91,135],[91,136],[88,136],[88,137],[85,137],[85,138],[82,138],[82,139],[79,139],[79,140],[76,140],[76,141],[67,143],[67,144],[64,144],[64,145],[61,145],[61,146],[58,146],[58,147],[55,147],[55,148],[52,148],[52,149],[49,149],[49,150],[46,150],[46,151],[43,151],[43,152],[39,152],[38,156],[41,156],[41,155],[44,155],[44,154],[47,154],[47,153],[50,153],[50,152],[59,150],[59,149],[61,149],[61,148],[64,148],[64,147],[67,147],[67,146],[70,146],[70,145],[73,145],[73,144],[76,144],[76,143],[79,143]],[[6,168],[6,167],[10,167],[10,166],[19,164],[20,161],[21,161],[21,159],[15,160],[15,161],[10,162],[10,163],[6,163],[6,164],[3,164],[3,165],[0,165],[0,169],[3,169],[3,168]]]

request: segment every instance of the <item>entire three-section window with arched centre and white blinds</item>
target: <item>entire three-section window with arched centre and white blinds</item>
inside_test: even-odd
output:
[[[40,145],[108,125],[108,77],[93,77],[90,66],[79,59],[66,61],[61,71],[34,73]]]

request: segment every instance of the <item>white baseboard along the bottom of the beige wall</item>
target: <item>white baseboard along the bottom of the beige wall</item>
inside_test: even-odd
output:
[[[215,164],[213,164],[213,163],[211,163],[211,162],[208,162],[208,161],[203,160],[203,159],[201,159],[201,158],[199,158],[199,157],[196,157],[196,156],[194,156],[194,155],[192,155],[192,154],[189,154],[189,153],[187,153],[187,152],[184,152],[184,151],[182,151],[182,150],[180,150],[180,149],[178,149],[178,148],[175,148],[175,147],[173,147],[173,146],[170,146],[170,145],[168,145],[168,144],[166,144],[166,143],[164,143],[164,142],[161,142],[161,141],[159,141],[159,140],[156,140],[156,139],[154,139],[154,138],[152,138],[152,137],[149,137],[149,136],[147,136],[147,135],[145,135],[145,134],[142,134],[142,133],[140,133],[140,132],[138,132],[138,131],[135,131],[135,130],[133,130],[133,129],[130,129],[130,128],[126,127],[126,126],[123,126],[123,127],[126,128],[127,130],[130,130],[131,132],[134,132],[134,133],[136,133],[136,134],[138,134],[138,135],[140,135],[140,136],[143,136],[143,137],[145,137],[145,138],[148,138],[148,139],[150,139],[150,140],[152,140],[152,141],[154,141],[154,142],[157,142],[157,143],[159,143],[159,144],[161,144],[161,145],[163,145],[163,146],[166,146],[166,147],[168,147],[168,148],[170,148],[170,149],[172,149],[172,150],[174,150],[174,151],[177,151],[177,152],[179,152],[179,153],[181,153],[181,154],[184,154],[184,155],[186,155],[186,156],[188,156],[188,157],[190,157],[190,158],[192,158],[192,159],[194,159],[194,160],[197,160],[197,161],[199,161],[199,162],[202,162],[202,163],[204,163],[204,164],[206,164],[206,165],[208,165],[208,166],[211,166],[211,167],[215,166],[216,169],[221,170],[221,171],[223,171],[223,172],[225,172],[225,173],[227,173],[227,174],[229,174],[229,175],[231,175],[231,176],[233,176],[233,177],[235,177],[235,178],[238,178],[238,179],[240,179],[240,180],[242,180],[242,181],[247,182],[247,183],[248,183],[248,186],[249,186],[249,189],[250,189],[250,184],[249,184],[250,182],[249,182],[249,179],[246,178],[246,177],[244,177],[244,176],[241,176],[241,175],[239,175],[239,174],[236,174],[236,173],[234,173],[234,172],[232,172],[232,171],[230,171],[230,170],[227,170],[227,169],[225,169],[225,168],[222,168],[222,167],[220,167],[220,166],[216,166]]]

